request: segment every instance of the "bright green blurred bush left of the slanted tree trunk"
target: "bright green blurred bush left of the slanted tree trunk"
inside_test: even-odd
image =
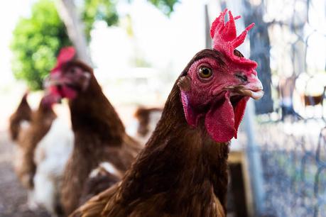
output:
[[[70,44],[53,1],[38,1],[33,5],[31,17],[21,18],[13,30],[15,77],[26,80],[33,90],[42,89],[43,79],[55,65],[60,48]]]

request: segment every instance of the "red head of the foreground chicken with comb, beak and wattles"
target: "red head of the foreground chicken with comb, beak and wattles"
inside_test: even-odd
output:
[[[232,13],[224,23],[223,11],[212,24],[213,49],[197,53],[178,81],[185,118],[190,126],[204,121],[207,133],[224,143],[237,138],[249,98],[260,99],[263,87],[256,62],[236,50],[244,42],[251,24],[237,37]]]

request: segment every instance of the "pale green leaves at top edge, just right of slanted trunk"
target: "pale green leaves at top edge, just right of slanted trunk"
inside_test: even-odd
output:
[[[119,16],[116,12],[116,1],[85,0],[82,10],[82,21],[84,21],[85,34],[89,41],[94,21],[105,21],[108,26],[118,23]]]

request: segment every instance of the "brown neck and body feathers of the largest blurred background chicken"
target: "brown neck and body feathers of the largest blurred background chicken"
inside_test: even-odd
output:
[[[72,63],[75,64],[75,63]],[[116,169],[125,172],[134,161],[141,145],[126,135],[119,116],[104,96],[92,69],[82,64],[77,66],[91,74],[89,86],[70,101],[72,130],[75,133],[75,148],[67,162],[63,179],[61,201],[66,214],[79,206],[82,195],[94,195],[87,191],[87,180],[93,169],[102,162],[110,162]],[[115,183],[116,177],[107,177],[107,183]],[[100,183],[99,183],[100,184]],[[88,189],[89,190],[89,189]]]

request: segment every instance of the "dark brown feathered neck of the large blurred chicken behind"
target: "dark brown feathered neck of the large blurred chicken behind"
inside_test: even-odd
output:
[[[124,125],[104,96],[94,74],[89,80],[89,87],[72,99],[69,106],[75,134],[86,137],[92,134],[102,142],[115,141],[120,144],[125,133]]]

